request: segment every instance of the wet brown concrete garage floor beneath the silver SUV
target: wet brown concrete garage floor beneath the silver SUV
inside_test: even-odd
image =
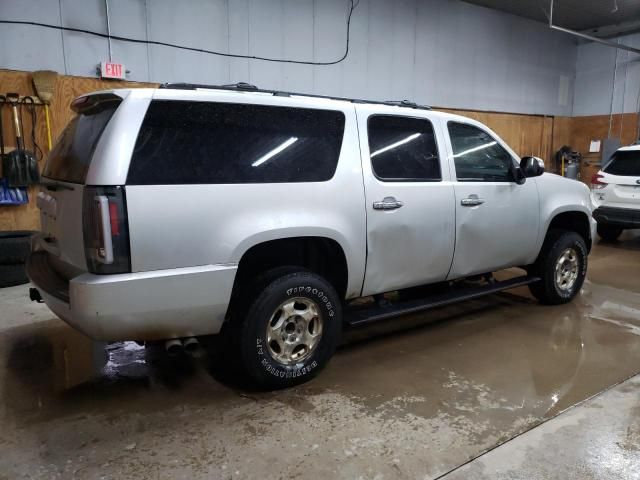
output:
[[[569,305],[516,289],[350,331],[273,393],[0,290],[0,479],[640,478],[639,269],[626,233]]]

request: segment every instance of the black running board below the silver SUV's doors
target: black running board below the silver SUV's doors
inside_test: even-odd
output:
[[[510,288],[522,287],[540,280],[540,277],[524,275],[500,282],[472,287],[452,287],[450,292],[430,295],[416,300],[406,300],[380,307],[351,307],[345,309],[345,323],[349,326],[366,325],[380,320],[418,313],[452,303],[483,297]]]

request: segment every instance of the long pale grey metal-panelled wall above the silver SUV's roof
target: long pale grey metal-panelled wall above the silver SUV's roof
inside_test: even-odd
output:
[[[349,0],[109,0],[111,33],[238,54],[339,58]],[[106,33],[104,0],[4,0],[0,18]],[[361,0],[335,66],[229,59],[112,42],[140,81],[230,83],[450,108],[570,115],[577,46],[544,25],[459,0]],[[0,25],[0,67],[95,75],[107,40]]]

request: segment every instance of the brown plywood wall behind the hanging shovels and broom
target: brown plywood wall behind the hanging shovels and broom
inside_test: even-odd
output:
[[[54,143],[55,138],[62,132],[73,116],[73,112],[69,109],[69,104],[75,97],[95,90],[148,86],[152,85],[136,82],[99,80],[96,78],[59,76],[50,107],[51,130]],[[0,70],[0,94],[6,93],[18,93],[20,95],[31,95],[35,97],[36,94],[31,82],[31,74],[27,72]],[[11,108],[7,105],[2,106],[1,114],[4,127],[4,144],[7,147],[15,147],[16,140],[12,128]],[[37,108],[37,115],[36,143],[46,155],[48,149],[43,107]],[[31,150],[31,121],[26,110],[23,113],[23,123],[26,130],[26,132],[24,132],[26,148]],[[44,159],[41,159],[39,164],[40,170],[42,170]],[[37,230],[40,220],[35,206],[36,195],[37,189],[30,188],[28,205],[0,206],[0,231]]]

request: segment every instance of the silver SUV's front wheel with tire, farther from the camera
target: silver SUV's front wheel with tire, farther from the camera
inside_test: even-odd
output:
[[[556,266],[561,259],[559,268],[568,273],[558,277]],[[547,234],[529,273],[541,278],[539,282],[529,285],[529,290],[540,303],[560,305],[570,302],[582,288],[587,274],[587,246],[584,239],[575,232],[552,230]]]

